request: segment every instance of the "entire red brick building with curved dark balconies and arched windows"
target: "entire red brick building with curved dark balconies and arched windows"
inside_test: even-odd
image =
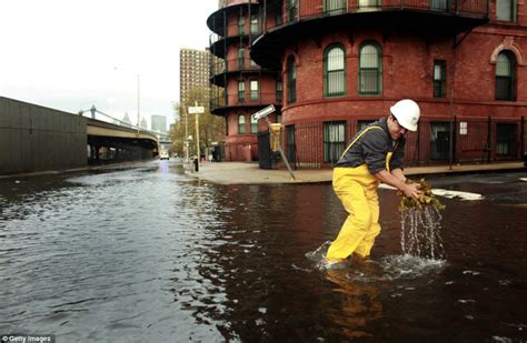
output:
[[[240,22],[249,34],[233,34]],[[256,145],[248,114],[274,103],[288,160],[330,167],[360,125],[401,98],[421,108],[419,130],[408,134],[410,163],[518,160],[526,150],[523,1],[227,1],[208,24],[227,69],[240,47],[259,65],[212,78],[225,90],[213,113],[227,118],[231,160],[240,160],[239,147]],[[256,103],[239,101],[239,80],[260,82]],[[262,120],[258,127],[267,129]]]

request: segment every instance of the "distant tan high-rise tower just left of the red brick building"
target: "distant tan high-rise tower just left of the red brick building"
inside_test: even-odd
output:
[[[186,103],[189,91],[210,90],[210,52],[208,50],[181,49],[179,51],[179,102]]]

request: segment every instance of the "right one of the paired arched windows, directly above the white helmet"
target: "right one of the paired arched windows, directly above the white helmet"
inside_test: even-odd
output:
[[[382,93],[382,53],[375,42],[367,42],[359,50],[359,94]]]

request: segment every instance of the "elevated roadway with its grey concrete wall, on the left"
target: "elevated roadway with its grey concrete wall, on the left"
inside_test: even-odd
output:
[[[86,111],[68,113],[0,97],[0,175],[152,159],[160,139],[167,141],[119,120],[97,120],[96,111],[84,118]]]

